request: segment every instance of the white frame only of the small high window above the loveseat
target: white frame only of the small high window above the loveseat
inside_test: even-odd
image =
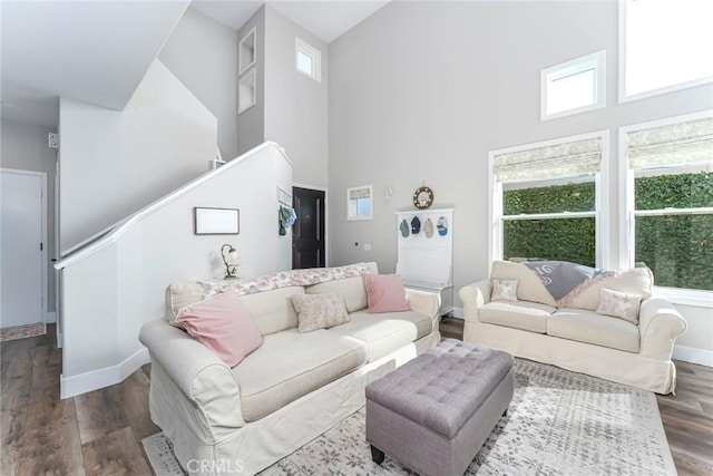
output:
[[[550,76],[560,74],[573,76],[594,68],[596,81],[593,85],[596,100],[585,106],[573,107],[557,113],[547,111],[547,98],[549,85],[553,82]],[[559,78],[561,79],[561,78]],[[556,79],[555,79],[556,80]],[[573,60],[550,66],[540,71],[540,120],[549,120],[558,117],[570,116],[573,114],[586,113],[588,110],[606,107],[606,50],[595,51]]]

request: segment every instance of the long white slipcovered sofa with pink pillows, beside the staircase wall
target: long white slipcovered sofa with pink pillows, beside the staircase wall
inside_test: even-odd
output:
[[[375,263],[362,265],[377,273]],[[168,319],[205,291],[170,285]],[[141,329],[152,419],[192,474],[260,472],[364,405],[367,383],[440,342],[436,294],[409,291],[411,311],[370,314],[359,275],[254,291],[241,300],[263,344],[234,368],[166,319]],[[344,298],[350,322],[300,333],[290,297],[324,292]]]

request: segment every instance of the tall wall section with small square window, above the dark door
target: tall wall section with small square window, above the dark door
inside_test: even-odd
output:
[[[295,69],[295,37],[321,51],[321,82]],[[328,45],[265,7],[265,140],[287,150],[295,183],[328,185]]]

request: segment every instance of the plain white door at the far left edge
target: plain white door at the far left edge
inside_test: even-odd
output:
[[[0,176],[0,328],[42,322],[47,174],[4,168]]]

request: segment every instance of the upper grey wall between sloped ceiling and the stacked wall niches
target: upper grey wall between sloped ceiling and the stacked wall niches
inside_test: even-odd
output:
[[[218,122],[218,147],[237,157],[237,31],[189,8],[158,59]]]

